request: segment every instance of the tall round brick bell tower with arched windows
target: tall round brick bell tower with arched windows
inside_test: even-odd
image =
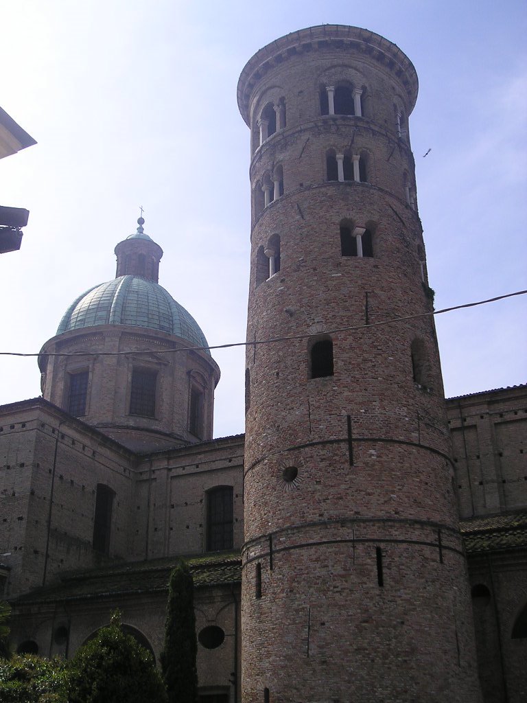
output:
[[[244,703],[480,699],[416,96],[395,44],[339,25],[274,41],[238,84],[247,341],[280,340],[247,347]]]

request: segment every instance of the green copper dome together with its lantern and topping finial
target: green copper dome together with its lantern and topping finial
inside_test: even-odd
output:
[[[79,295],[65,312],[57,334],[95,325],[132,325],[176,335],[193,347],[207,347],[193,316],[157,283],[163,250],[143,230],[143,217],[137,222],[137,231],[115,247],[116,278]]]

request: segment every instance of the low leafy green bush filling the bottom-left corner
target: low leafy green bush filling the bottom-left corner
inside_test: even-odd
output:
[[[15,654],[0,659],[2,703],[67,703],[65,664],[60,659],[41,659]]]

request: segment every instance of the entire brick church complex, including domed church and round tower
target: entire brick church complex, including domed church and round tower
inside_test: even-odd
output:
[[[444,399],[416,98],[410,60],[357,27],[242,71],[245,435],[212,438],[219,368],[143,218],[67,308],[43,396],[0,408],[16,649],[69,657],[119,607],[157,659],[184,556],[203,702],[527,695],[527,388]]]

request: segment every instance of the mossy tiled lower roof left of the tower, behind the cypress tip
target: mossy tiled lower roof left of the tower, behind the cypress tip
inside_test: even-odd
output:
[[[17,598],[16,604],[83,600],[115,595],[137,595],[167,591],[171,570],[180,557],[122,562],[90,571],[64,574],[57,586],[37,588]],[[242,578],[242,560],[237,552],[185,557],[193,575],[195,588],[238,583]]]

